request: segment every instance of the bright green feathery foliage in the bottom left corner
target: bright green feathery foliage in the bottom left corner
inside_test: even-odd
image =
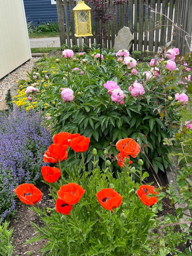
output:
[[[5,221],[0,223],[0,255],[1,256],[12,256],[13,245],[12,245],[12,233],[13,228],[8,228],[9,222]]]

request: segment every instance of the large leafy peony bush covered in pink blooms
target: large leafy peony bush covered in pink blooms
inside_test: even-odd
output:
[[[44,110],[53,135],[70,132],[90,139],[85,156],[89,169],[93,148],[104,168],[104,149],[115,156],[117,140],[131,137],[142,147],[137,158],[142,158],[143,169],[149,169],[151,161],[156,172],[164,171],[171,168],[169,156],[176,146],[174,141],[165,146],[163,140],[179,127],[179,111],[189,105],[192,92],[191,53],[179,57],[179,49],[170,43],[160,52],[150,63],[138,64],[123,49],[101,55],[99,49],[83,55],[64,50],[59,62],[42,59],[38,72],[20,86],[35,83],[39,92],[28,96],[37,102],[37,110]],[[68,161],[74,164],[70,152]],[[116,161],[111,168],[119,168]]]

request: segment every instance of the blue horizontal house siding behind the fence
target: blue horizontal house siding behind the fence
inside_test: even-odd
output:
[[[56,22],[57,6],[51,4],[51,0],[23,0],[27,21],[32,21],[33,25],[39,22],[52,21]],[[70,15],[68,8],[68,17],[70,23]]]

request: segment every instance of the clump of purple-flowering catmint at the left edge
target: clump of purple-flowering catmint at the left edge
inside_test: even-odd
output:
[[[43,154],[51,143],[44,119],[34,111],[0,113],[0,218],[15,208],[13,188],[40,178]]]

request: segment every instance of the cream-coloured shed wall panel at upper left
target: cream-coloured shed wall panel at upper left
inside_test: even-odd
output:
[[[0,79],[30,58],[23,0],[0,0]]]

